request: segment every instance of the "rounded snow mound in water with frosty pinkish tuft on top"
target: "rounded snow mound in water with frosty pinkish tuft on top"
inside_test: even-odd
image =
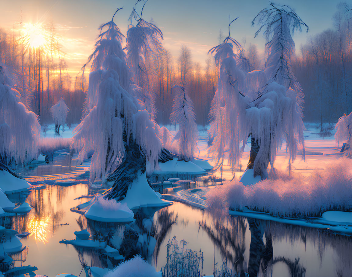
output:
[[[134,221],[134,214],[126,203],[118,203],[114,199],[105,200],[102,196],[97,197],[85,215],[89,219],[102,222]]]

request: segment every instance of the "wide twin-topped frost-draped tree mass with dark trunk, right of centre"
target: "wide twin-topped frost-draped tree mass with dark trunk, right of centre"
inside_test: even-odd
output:
[[[274,9],[281,16],[277,16]],[[268,26],[266,34],[270,33],[272,36],[266,47],[268,68],[264,73],[255,71],[246,76],[237,67],[238,55],[233,52],[233,45],[238,51],[242,49],[230,37],[230,31],[224,43],[209,51],[215,53],[219,78],[211,110],[214,119],[210,132],[214,136],[214,143],[210,151],[216,154],[218,162],[228,152],[228,163],[233,167],[239,163],[247,138],[251,136],[247,169],[251,170],[248,172],[253,174],[252,177],[260,176],[262,179],[267,176],[269,162],[274,166],[277,149],[283,140],[290,150],[289,163],[296,157],[298,142],[303,144],[304,153],[302,89],[294,79],[288,62],[283,62],[290,59],[294,49],[290,28],[296,30],[300,23],[297,23],[298,17],[291,10],[285,13],[273,8],[269,11],[271,16],[263,17],[262,13],[267,11],[268,9],[262,10],[254,19],[259,18],[259,22],[263,24],[258,32]],[[287,40],[282,39],[283,37]]]

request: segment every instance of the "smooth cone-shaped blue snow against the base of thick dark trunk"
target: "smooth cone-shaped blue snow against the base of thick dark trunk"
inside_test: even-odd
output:
[[[139,171],[137,179],[133,180],[128,187],[126,197],[121,200],[121,204],[127,204],[127,207],[133,210],[142,207],[165,207],[172,202],[160,199],[149,186],[145,172]]]

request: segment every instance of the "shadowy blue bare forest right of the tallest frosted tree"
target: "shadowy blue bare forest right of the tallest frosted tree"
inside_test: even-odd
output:
[[[352,111],[352,11],[340,4],[334,29],[308,39],[293,69],[305,94],[304,121],[332,127]]]

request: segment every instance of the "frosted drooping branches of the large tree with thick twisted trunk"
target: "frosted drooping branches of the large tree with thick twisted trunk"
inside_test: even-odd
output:
[[[89,76],[89,94],[93,108],[74,130],[71,148],[83,161],[94,152],[90,180],[102,178],[114,171],[126,156],[126,147],[142,155],[143,171],[151,172],[158,164],[162,142],[155,132],[155,123],[142,103],[120,85],[127,82],[126,54],[122,50],[122,34],[112,21],[99,28],[96,49],[90,56],[96,69]],[[122,68],[121,68],[122,67]],[[121,75],[119,75],[121,74]],[[96,100],[95,100],[96,98]],[[144,157],[144,161],[143,161]],[[129,156],[133,159],[132,156]],[[146,164],[147,161],[147,164]],[[125,174],[127,174],[125,172]],[[127,184],[128,185],[128,184]]]

